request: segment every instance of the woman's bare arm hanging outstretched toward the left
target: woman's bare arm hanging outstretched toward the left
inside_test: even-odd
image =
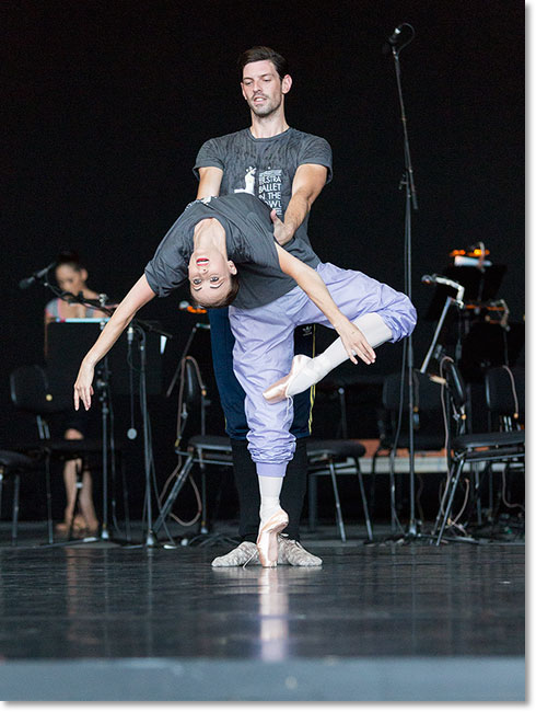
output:
[[[74,409],[78,411],[80,401],[88,411],[91,406],[91,397],[93,395],[93,376],[95,366],[98,364],[112,346],[123,334],[128,324],[132,321],[136,312],[147,305],[154,297],[154,291],[149,286],[145,275],[140,277],[135,286],[130,289],[125,299],[115,310],[112,319],[101,332],[101,335],[84,356],[77,382],[74,383]]]

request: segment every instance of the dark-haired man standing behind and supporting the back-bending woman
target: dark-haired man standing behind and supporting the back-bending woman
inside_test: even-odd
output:
[[[290,128],[284,99],[292,85],[287,60],[269,47],[253,47],[238,59],[241,87],[250,110],[249,128],[206,141],[194,172],[199,177],[197,198],[247,192],[272,208],[273,232],[281,245],[294,233],[308,243],[308,211],[331,180],[331,149],[326,140]],[[245,393],[233,371],[234,336],[226,309],[209,311],[213,368],[233,448],[242,542],[212,566],[238,566],[256,558],[259,491],[255,466],[247,450]],[[296,330],[295,351],[313,354],[314,326]],[[313,391],[294,399],[291,427],[296,449],[289,463],[281,501],[289,514],[286,536],[279,540],[279,563],[322,564],[300,543],[300,519],[307,482],[306,437],[311,435]],[[253,559],[252,559],[253,556]]]

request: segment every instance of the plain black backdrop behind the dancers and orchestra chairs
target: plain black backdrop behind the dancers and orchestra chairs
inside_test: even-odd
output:
[[[43,359],[43,308],[50,297],[43,287],[20,291],[19,280],[72,248],[88,265],[90,286],[113,297],[126,292],[195,197],[191,165],[201,142],[248,125],[235,61],[254,44],[271,45],[290,61],[289,123],[334,149],[334,181],[311,220],[318,253],[403,288],[401,128],[393,59],[382,46],[399,23],[415,26],[417,37],[400,55],[420,208],[413,301],[423,314],[431,288],[420,276],[441,271],[453,248],[483,240],[491,257],[508,264],[500,296],[522,320],[520,0],[5,0],[0,12],[4,446],[25,426],[10,404],[8,375]],[[191,318],[177,312],[184,296],[155,300],[142,313],[176,334],[165,379],[191,328]],[[418,363],[431,328],[421,320],[416,330]],[[196,337],[201,359],[207,347],[206,333]],[[396,368],[399,352],[384,354],[378,374]],[[173,460],[172,400],[152,400],[164,474]],[[120,420],[120,403],[118,411]],[[318,424],[322,417],[318,409]],[[221,429],[217,404],[211,418]],[[369,435],[358,425],[352,435]]]

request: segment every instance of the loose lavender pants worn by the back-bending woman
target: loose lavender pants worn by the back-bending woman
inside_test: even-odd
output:
[[[391,329],[393,342],[413,331],[417,312],[406,295],[361,272],[341,269],[330,263],[321,263],[316,271],[350,321],[376,312]],[[333,326],[298,286],[264,307],[237,309],[231,306],[229,318],[236,340],[234,372],[246,393],[252,459],[257,474],[283,476],[295,448],[295,438],[289,430],[293,418],[292,401],[268,403],[263,391],[290,371],[296,326],[312,323]]]

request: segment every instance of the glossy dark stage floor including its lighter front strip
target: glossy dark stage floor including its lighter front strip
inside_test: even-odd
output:
[[[0,529],[2,700],[525,699],[523,542],[324,527],[303,540],[322,569],[214,570],[228,544],[49,549],[36,531],[12,548]]]

